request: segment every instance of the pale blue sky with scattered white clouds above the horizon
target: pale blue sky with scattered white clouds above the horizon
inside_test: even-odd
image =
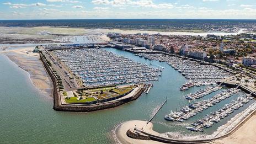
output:
[[[0,19],[256,19],[255,0],[2,0]]]

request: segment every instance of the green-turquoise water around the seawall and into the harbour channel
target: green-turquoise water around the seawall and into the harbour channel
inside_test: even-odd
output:
[[[148,65],[151,63],[152,66],[164,67],[164,70],[159,81],[153,82],[154,87],[151,88],[150,93],[142,94],[134,102],[117,108],[92,113],[67,113],[53,110],[52,98],[40,94],[39,90],[31,84],[28,73],[21,71],[6,56],[0,54],[1,143],[114,143],[112,130],[116,125],[127,120],[148,120],[166,98],[167,104],[152,121],[153,129],[158,132],[195,135],[184,127],[237,97],[234,95],[184,123],[165,121],[163,116],[167,112],[189,104],[188,100],[183,98],[185,94],[200,88],[195,87],[187,92],[181,92],[179,87],[185,82],[185,78],[166,63],[150,62],[116,49],[106,50],[148,63]],[[230,118],[231,116],[228,116],[211,129],[207,129],[205,134],[211,134],[217,126],[225,124]]]

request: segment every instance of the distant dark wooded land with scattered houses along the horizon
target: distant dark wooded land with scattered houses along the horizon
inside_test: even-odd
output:
[[[62,19],[62,20],[0,20],[0,26],[54,26],[70,28],[102,28],[123,30],[152,30],[152,31],[189,31],[209,32],[222,31],[236,33],[239,29],[248,32],[256,31],[255,20],[243,19]]]

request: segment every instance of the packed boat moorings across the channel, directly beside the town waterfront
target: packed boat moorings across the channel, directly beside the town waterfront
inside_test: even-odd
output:
[[[175,57],[165,54],[139,54],[138,56],[145,57],[148,60],[156,60],[166,62],[182,74],[188,82],[183,84],[180,90],[187,90],[193,86],[212,85],[216,84],[223,78],[231,76],[230,73],[220,70],[212,65],[202,65],[198,61],[185,60],[184,58]]]

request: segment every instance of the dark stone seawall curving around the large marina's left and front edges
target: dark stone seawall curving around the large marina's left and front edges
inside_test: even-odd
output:
[[[54,96],[54,110],[57,111],[74,111],[74,112],[88,112],[88,111],[96,111],[96,110],[102,110],[102,109],[109,109],[114,108],[116,106],[132,102],[133,100],[136,100],[140,95],[143,93],[143,91],[146,89],[145,84],[143,84],[143,88],[138,90],[135,95],[132,97],[121,99],[121,100],[115,100],[114,102],[106,102],[106,103],[99,103],[95,105],[69,105],[69,104],[62,104],[61,103],[61,95],[60,90],[57,88],[57,78],[55,77],[55,74],[52,72],[51,68],[47,65],[47,62],[45,58],[42,56],[43,54],[40,52],[40,60],[42,61],[47,73],[52,79],[52,83],[54,86],[53,90],[53,96]]]

